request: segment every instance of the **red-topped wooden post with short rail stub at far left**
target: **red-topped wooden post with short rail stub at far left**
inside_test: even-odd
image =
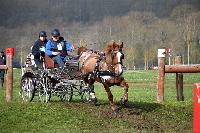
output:
[[[6,74],[6,102],[10,102],[12,100],[13,56],[14,56],[14,48],[6,48],[6,65],[0,65],[0,69],[4,69],[7,71],[7,74]]]

